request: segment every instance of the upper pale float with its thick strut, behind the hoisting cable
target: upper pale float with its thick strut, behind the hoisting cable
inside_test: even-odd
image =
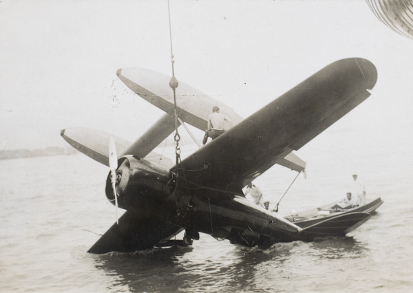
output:
[[[125,154],[138,155],[140,158],[143,158],[144,156],[141,154],[144,150],[150,151],[150,147],[153,149],[153,147],[162,141],[154,140],[154,138],[167,138],[174,130],[172,118],[174,116],[174,102],[172,90],[169,87],[170,77],[149,69],[134,67],[119,69],[116,74],[135,94],[138,94],[138,96],[144,98],[152,105],[167,112],[164,118],[158,120],[145,135],[142,135],[141,138],[136,140],[134,145],[129,147],[125,152]],[[182,118],[184,122],[202,131],[207,129],[208,115],[215,105],[220,107],[221,113],[225,113],[225,116],[228,116],[232,120],[233,125],[243,120],[231,107],[185,83],[180,83],[177,87],[176,100],[178,116]],[[226,126],[229,127],[229,124]],[[303,171],[306,167],[306,163],[294,153],[290,153],[286,158],[280,159],[277,164],[295,171]]]

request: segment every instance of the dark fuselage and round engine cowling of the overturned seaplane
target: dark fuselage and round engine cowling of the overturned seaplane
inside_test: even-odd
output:
[[[290,223],[257,208],[244,195],[193,184],[184,175],[134,156],[121,158],[119,165],[118,206],[185,228],[193,239],[204,232],[231,243],[266,247],[298,234]],[[114,204],[110,174],[106,195]]]

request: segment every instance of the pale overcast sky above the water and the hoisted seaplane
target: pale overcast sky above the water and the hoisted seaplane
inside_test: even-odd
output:
[[[366,58],[379,72],[372,96],[329,131],[379,129],[412,144],[413,40],[365,1],[170,5],[178,80],[248,116],[334,61]],[[63,146],[67,127],[133,141],[162,111],[116,70],[171,74],[170,50],[167,0],[1,0],[0,147]]]

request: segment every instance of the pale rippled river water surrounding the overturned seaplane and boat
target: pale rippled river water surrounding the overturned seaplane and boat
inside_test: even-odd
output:
[[[307,180],[300,175],[290,188],[280,213],[343,197],[343,176],[351,177],[346,164],[354,162],[368,199],[384,204],[348,237],[277,243],[265,251],[202,234],[187,248],[87,254],[116,220],[104,193],[107,167],[83,154],[0,161],[0,291],[411,292],[413,162],[404,155],[410,145],[359,157],[318,153],[318,146],[304,150],[315,163]],[[276,167],[257,184],[274,203],[294,177]]]

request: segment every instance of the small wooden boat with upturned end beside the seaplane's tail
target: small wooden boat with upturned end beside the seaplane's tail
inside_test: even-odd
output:
[[[338,202],[332,202],[319,208],[311,208],[284,217],[303,228],[297,240],[311,240],[317,237],[344,236],[365,223],[372,213],[383,204],[381,198],[368,204],[347,209],[332,208]]]

